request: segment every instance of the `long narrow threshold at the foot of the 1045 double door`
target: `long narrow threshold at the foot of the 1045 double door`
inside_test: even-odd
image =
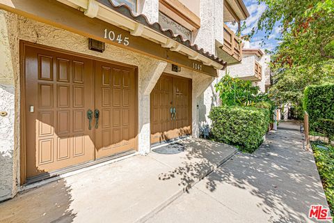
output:
[[[47,174],[42,174],[39,176],[33,176],[31,178],[26,179],[26,183],[22,185],[19,191],[30,190],[34,187],[40,187],[41,185],[45,185],[47,183],[51,183],[56,180],[60,180],[66,178],[68,176],[73,176],[76,174],[80,174],[84,171],[88,171],[90,169],[95,169],[97,167],[102,167],[107,164],[111,164],[113,162],[118,162],[120,160],[125,160],[134,155],[138,155],[139,153],[135,150],[125,151],[122,153],[117,153],[115,155],[111,155],[108,157],[102,157],[97,160],[84,162],[81,164],[74,165],[72,167],[65,167],[63,169],[58,169],[56,171],[51,171]]]

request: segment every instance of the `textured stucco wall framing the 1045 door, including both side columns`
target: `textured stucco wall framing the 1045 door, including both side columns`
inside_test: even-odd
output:
[[[103,53],[88,49],[88,38],[0,10],[0,200],[19,185],[19,40],[66,49],[138,66],[138,148],[150,152],[150,91],[167,63],[106,44]],[[15,109],[15,110],[14,110]]]

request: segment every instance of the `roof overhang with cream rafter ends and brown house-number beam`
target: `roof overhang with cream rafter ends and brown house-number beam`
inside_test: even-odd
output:
[[[127,7],[113,6],[108,0],[0,0],[0,8],[206,75],[216,77],[216,70],[227,66],[189,40],[162,30],[157,23],[148,23],[142,15],[132,15]],[[109,40],[106,30],[127,36],[130,44]]]

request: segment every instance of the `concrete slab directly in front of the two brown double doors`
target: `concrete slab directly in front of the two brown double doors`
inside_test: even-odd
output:
[[[183,139],[176,155],[135,155],[0,203],[0,222],[145,222],[237,150]]]

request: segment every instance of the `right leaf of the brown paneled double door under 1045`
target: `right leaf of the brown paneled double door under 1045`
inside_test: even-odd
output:
[[[136,76],[134,68],[95,62],[96,157],[135,149]]]

